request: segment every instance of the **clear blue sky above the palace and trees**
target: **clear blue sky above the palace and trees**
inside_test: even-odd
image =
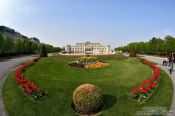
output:
[[[175,36],[175,0],[0,0],[0,25],[54,46]]]

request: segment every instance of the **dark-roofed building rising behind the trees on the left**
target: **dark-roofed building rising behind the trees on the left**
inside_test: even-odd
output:
[[[16,32],[14,29],[11,29],[6,26],[0,26],[0,33],[2,33],[4,37],[11,37],[14,41],[16,41],[17,39],[21,39],[29,40],[35,43],[40,43],[39,39],[37,39],[36,37],[28,38],[27,36],[24,36],[19,32]]]

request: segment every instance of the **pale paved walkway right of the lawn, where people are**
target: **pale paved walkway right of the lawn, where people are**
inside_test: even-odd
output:
[[[172,74],[170,75],[170,72],[169,72],[170,67],[162,66],[162,62],[164,60],[164,58],[162,57],[147,56],[147,55],[143,55],[143,57],[149,61],[159,64],[159,67],[163,69],[165,72],[167,72],[167,74],[170,76],[173,83],[173,100],[172,100],[170,111],[174,112],[173,116],[175,116],[175,71],[173,71]]]

